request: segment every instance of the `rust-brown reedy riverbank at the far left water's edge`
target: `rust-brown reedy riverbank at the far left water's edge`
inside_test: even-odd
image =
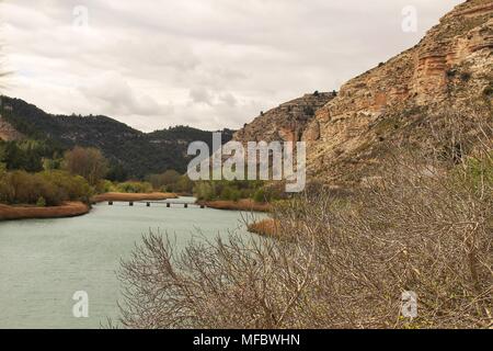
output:
[[[0,204],[0,220],[64,218],[89,213],[90,207],[82,202],[66,202],[60,206],[9,206]]]

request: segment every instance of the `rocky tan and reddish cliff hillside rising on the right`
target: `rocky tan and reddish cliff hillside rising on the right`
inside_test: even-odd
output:
[[[449,113],[491,121],[492,52],[493,2],[466,1],[416,46],[345,83],[301,128],[285,129],[298,121],[288,109],[277,109],[275,118],[256,118],[234,138],[293,139],[301,129],[311,178],[358,184],[378,174],[395,144],[434,143],[431,125]]]

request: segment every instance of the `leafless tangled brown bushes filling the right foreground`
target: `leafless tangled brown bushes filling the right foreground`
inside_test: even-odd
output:
[[[351,201],[311,191],[279,206],[286,240],[232,235],[176,252],[146,237],[121,272],[122,324],[491,328],[492,124],[457,116],[433,122],[432,149],[399,149]],[[401,316],[405,291],[417,318]]]

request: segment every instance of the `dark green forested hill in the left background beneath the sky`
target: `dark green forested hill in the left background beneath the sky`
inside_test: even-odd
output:
[[[184,172],[192,158],[186,155],[190,143],[202,140],[211,147],[213,132],[176,126],[146,134],[106,116],[53,115],[21,99],[1,99],[2,125],[13,127],[16,138],[46,140],[62,149],[96,147],[130,177],[168,169]],[[232,133],[222,131],[222,141],[230,140]]]

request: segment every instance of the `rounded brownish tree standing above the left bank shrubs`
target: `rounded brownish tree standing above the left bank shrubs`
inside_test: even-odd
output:
[[[65,154],[64,168],[95,185],[107,173],[107,160],[99,149],[77,146]]]

